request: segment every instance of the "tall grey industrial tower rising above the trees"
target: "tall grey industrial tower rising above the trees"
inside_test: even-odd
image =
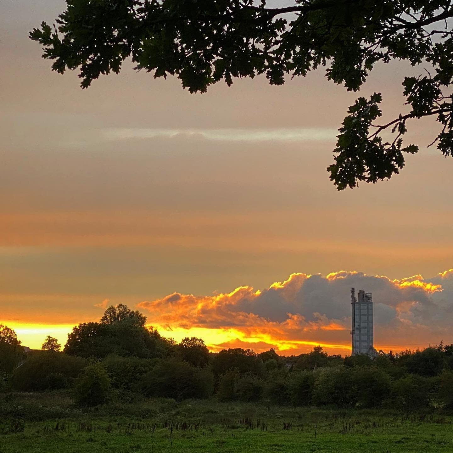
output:
[[[359,291],[359,300],[356,299],[356,290],[351,288],[352,305],[352,355],[377,355],[373,346],[373,299],[371,293],[363,289]]]

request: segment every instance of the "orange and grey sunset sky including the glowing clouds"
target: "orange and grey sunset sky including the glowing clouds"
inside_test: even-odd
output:
[[[423,66],[377,66],[359,94],[322,71],[189,94],[126,63],[81,90],[28,39],[63,9],[0,3],[0,323],[24,345],[64,344],[123,303],[212,351],[344,355],[352,286],[373,292],[377,348],[453,342],[453,159],[426,148],[436,125],[409,124],[420,152],[390,181],[337,192],[326,171],[355,98],[382,92],[390,120]]]

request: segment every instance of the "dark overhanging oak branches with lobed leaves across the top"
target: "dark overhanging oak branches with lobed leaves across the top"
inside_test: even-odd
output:
[[[376,183],[404,167],[408,120],[434,116],[434,143],[452,154],[453,6],[450,0],[292,0],[272,8],[266,0],[66,0],[53,28],[43,22],[30,38],[59,73],[79,69],[82,88],[101,74],[135,69],[154,77],[177,76],[190,92],[206,92],[223,80],[265,74],[270,84],[326,67],[329,80],[357,91],[378,62],[407,60],[429,71],[405,77],[409,106],[387,124],[380,93],[359,97],[347,112],[334,163],[338,190],[358,181]],[[422,70],[420,70],[422,72]],[[393,137],[381,133],[391,129]]]

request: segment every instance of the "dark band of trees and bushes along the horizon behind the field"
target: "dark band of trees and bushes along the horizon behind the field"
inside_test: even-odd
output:
[[[201,338],[177,343],[146,322],[123,304],[111,306],[99,322],[75,326],[63,351],[48,336],[42,351],[27,354],[14,330],[0,325],[0,391],[67,389],[80,405],[215,395],[275,405],[453,409],[453,345],[373,359],[329,356],[319,346],[290,357],[274,349],[211,353]]]

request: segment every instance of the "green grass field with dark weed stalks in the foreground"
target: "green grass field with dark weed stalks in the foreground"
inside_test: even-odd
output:
[[[0,396],[0,453],[453,452],[452,417],[147,400],[80,410],[64,394]]]

